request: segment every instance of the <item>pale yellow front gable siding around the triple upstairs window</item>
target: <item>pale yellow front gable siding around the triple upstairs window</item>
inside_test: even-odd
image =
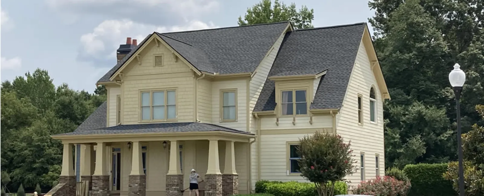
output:
[[[154,67],[154,56],[163,55],[163,66]],[[141,52],[141,65],[132,61],[125,72],[123,83],[124,124],[137,124],[139,121],[140,90],[176,88],[177,121],[194,120],[194,74],[181,60],[175,62],[171,51],[160,44],[148,43]]]

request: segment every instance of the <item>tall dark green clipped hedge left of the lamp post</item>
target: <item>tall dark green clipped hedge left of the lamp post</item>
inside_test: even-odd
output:
[[[412,187],[409,196],[456,196],[452,182],[443,178],[447,163],[407,165],[403,171]]]

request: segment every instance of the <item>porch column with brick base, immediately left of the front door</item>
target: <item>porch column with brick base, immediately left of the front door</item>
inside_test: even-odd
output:
[[[92,175],[92,196],[109,196],[109,174],[106,169],[106,143],[98,142],[96,165]]]

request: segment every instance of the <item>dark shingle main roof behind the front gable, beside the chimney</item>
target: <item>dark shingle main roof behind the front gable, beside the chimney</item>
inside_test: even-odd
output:
[[[221,74],[244,73],[256,70],[287,25],[288,22],[279,22],[157,34],[165,35],[162,39],[200,71]],[[137,48],[127,54],[98,82],[108,82],[111,75],[136,52]]]

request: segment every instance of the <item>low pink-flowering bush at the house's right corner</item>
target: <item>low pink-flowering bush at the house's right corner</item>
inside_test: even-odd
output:
[[[394,179],[390,176],[377,177],[376,180],[361,182],[354,194],[371,196],[407,196],[410,190],[410,182]]]

